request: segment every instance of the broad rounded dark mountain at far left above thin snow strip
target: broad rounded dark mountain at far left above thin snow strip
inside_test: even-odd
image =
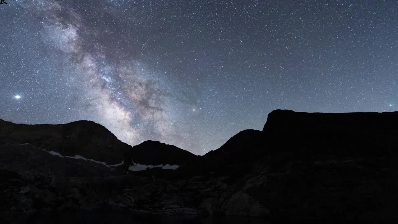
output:
[[[92,121],[68,124],[14,124],[0,120],[0,139],[16,145],[55,151],[63,156],[80,155],[107,164],[121,163],[130,145],[119,141],[104,126]]]

